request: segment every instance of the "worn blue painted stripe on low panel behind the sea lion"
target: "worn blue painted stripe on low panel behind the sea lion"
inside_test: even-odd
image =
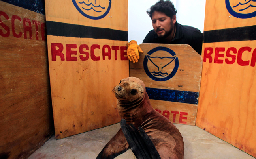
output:
[[[149,95],[149,99],[153,100],[198,104],[198,92],[177,91],[170,89],[158,89],[148,87],[146,87],[146,92]]]

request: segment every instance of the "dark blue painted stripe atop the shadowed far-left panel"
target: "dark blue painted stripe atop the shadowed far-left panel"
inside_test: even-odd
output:
[[[1,1],[45,15],[44,0],[1,0]]]

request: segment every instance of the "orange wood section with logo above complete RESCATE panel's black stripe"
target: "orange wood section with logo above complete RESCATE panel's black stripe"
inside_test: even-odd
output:
[[[85,2],[85,4],[87,5],[81,2]],[[105,17],[102,16],[103,18],[94,20],[91,18],[87,18],[83,14],[81,14],[79,10],[76,9],[74,3],[78,4],[78,6],[83,4],[83,6],[80,6],[80,8],[84,7],[85,9],[90,9],[90,7],[92,7],[96,11],[101,11],[97,13],[96,11],[93,11],[93,9],[91,9],[88,13],[84,10],[83,14],[86,13],[88,16],[92,17],[101,17],[101,15],[103,15],[103,13],[105,13],[107,8],[109,7],[109,3],[111,4],[111,8]],[[60,4],[61,8],[56,8],[56,6],[60,6]],[[88,4],[91,5],[88,6]],[[96,7],[94,7],[93,5]],[[99,5],[100,7],[97,7]],[[123,0],[122,2],[111,2],[111,0],[70,0],[65,2],[63,2],[62,0],[45,0],[46,20],[128,31],[127,5],[127,0]],[[101,7],[103,7],[104,9],[101,9]]]

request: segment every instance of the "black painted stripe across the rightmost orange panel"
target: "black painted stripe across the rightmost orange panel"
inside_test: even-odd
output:
[[[204,43],[248,40],[256,40],[256,26],[245,26],[203,32]]]

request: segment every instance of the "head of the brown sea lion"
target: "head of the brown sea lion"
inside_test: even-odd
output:
[[[120,81],[114,89],[115,96],[122,105],[139,104],[145,96],[145,84],[139,78],[128,77]]]

